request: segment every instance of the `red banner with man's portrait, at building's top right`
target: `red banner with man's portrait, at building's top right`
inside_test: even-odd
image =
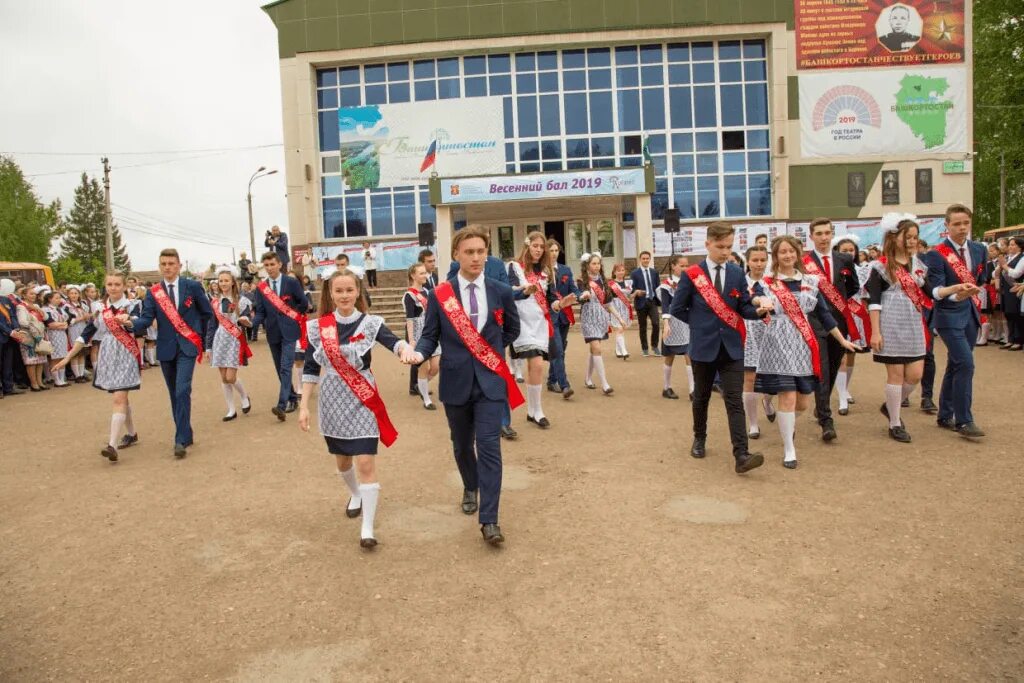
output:
[[[964,0],[794,0],[797,69],[964,61]]]

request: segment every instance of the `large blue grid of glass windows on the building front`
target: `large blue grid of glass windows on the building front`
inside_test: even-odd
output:
[[[338,110],[503,98],[506,172],[654,168],[652,214],[772,214],[764,40],[469,54],[319,69],[316,123],[327,239],[414,234],[432,222],[426,185],[349,190]]]

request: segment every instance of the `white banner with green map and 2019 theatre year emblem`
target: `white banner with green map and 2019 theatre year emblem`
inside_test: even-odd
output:
[[[804,157],[966,153],[962,67],[800,77]]]

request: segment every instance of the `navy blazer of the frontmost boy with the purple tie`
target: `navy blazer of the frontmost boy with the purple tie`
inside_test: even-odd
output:
[[[458,275],[450,278],[449,282],[461,304],[462,297],[459,292]],[[504,358],[505,347],[519,336],[519,311],[516,309],[512,288],[486,276],[484,276],[484,286],[487,290],[487,317],[480,335],[490,345],[490,348]],[[498,325],[498,321],[495,319],[495,311],[498,309],[504,311],[502,325]],[[441,353],[440,386],[437,389],[437,396],[442,403],[451,403],[452,405],[468,403],[474,378],[484,396],[490,400],[508,400],[505,382],[473,357],[473,354],[462,343],[459,333],[452,327],[447,315],[441,311],[437,297],[432,296],[427,300],[423,335],[416,344],[416,350],[418,353],[422,353],[424,358],[429,358],[430,354],[437,348],[438,343],[444,349],[444,352]]]

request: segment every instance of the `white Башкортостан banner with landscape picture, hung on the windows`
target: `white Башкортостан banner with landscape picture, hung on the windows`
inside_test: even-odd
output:
[[[338,134],[347,189],[426,184],[432,172],[505,172],[501,97],[346,106]]]

